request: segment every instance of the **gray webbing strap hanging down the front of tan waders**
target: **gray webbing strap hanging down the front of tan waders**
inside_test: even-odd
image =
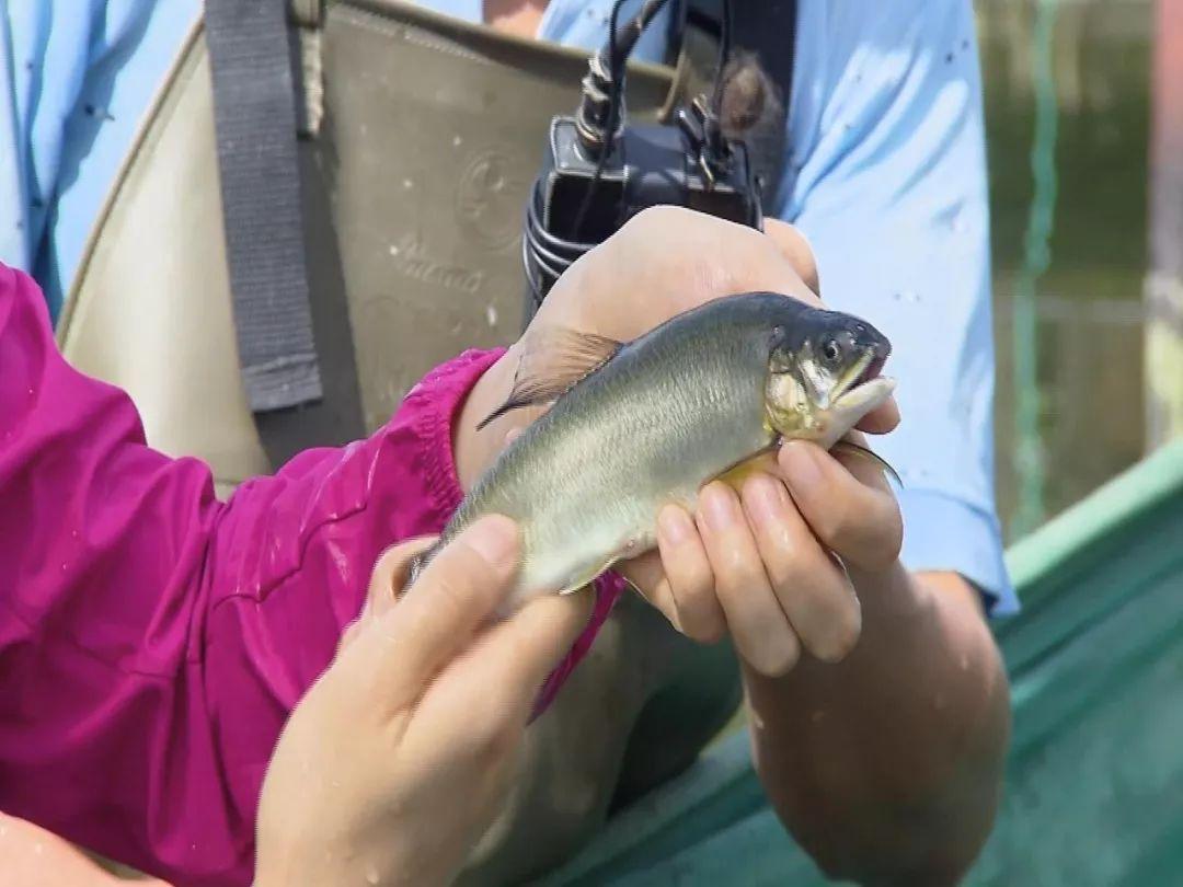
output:
[[[206,0],[239,364],[256,412],[319,400],[286,0]]]

